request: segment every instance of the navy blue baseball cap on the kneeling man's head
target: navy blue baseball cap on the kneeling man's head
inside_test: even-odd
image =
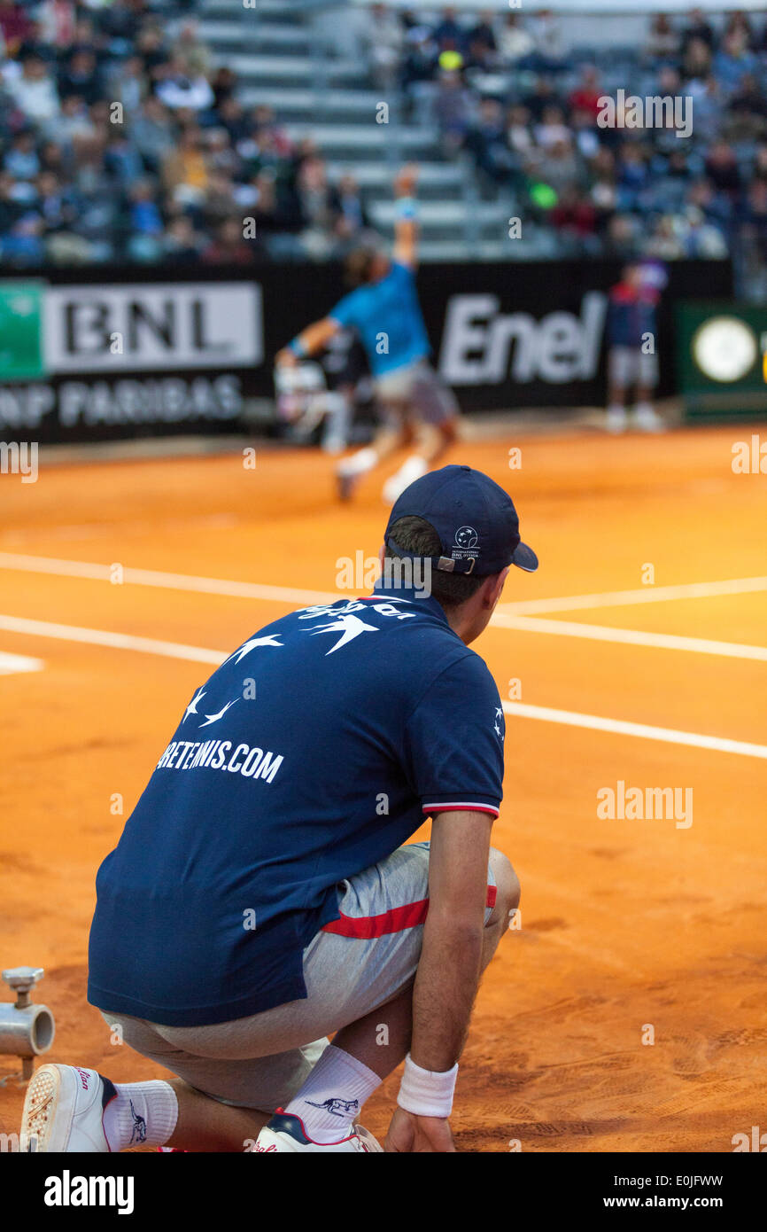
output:
[[[446,573],[485,577],[516,564],[534,573],[538,557],[520,540],[520,519],[507,492],[470,466],[443,466],[416,479],[395,501],[384,542],[394,556],[420,558],[405,552],[392,537],[400,517],[422,517],[440,536],[442,554],[432,567]]]

